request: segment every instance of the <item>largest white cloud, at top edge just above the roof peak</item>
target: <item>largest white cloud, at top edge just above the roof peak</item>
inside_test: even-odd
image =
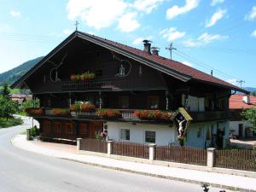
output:
[[[124,15],[127,6],[128,3],[123,0],[69,0],[68,19],[80,18],[86,26],[101,29],[118,21],[119,17]]]

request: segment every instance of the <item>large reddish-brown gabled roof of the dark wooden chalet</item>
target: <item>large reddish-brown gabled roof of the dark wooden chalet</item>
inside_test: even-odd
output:
[[[12,84],[12,88],[19,86],[22,82],[24,82],[33,72],[35,72],[38,67],[41,67],[45,61],[48,61],[50,57],[55,55],[62,47],[64,47],[68,42],[72,41],[73,38],[82,38],[90,41],[91,43],[98,44],[104,48],[110,49],[114,52],[117,52],[121,55],[125,55],[139,61],[149,67],[153,67],[162,73],[166,73],[171,75],[174,78],[180,79],[184,82],[189,80],[197,80],[202,81],[208,84],[215,84],[217,86],[221,86],[230,90],[238,90],[241,92],[248,93],[247,90],[243,90],[236,85],[229,84],[224,80],[212,77],[207,73],[203,73],[193,67],[189,67],[184,65],[181,62],[173,61],[167,59],[165,57],[159,55],[149,55],[145,51],[141,49],[135,49],[125,44],[119,44],[117,42],[110,41],[106,38],[99,38],[94,35],[90,35],[84,32],[73,32],[68,38],[66,38],[61,44],[59,44],[55,49],[53,49],[48,55],[44,57],[35,67],[32,67],[23,77],[21,77],[15,84]]]

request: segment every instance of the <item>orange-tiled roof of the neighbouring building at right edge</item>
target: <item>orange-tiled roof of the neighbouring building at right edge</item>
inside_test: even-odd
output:
[[[230,109],[256,108],[256,96],[248,96],[249,103],[243,102],[243,96],[245,95],[230,96]]]

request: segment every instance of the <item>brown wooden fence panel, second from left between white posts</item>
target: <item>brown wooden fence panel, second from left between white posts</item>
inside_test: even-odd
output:
[[[112,144],[112,154],[148,159],[148,145],[138,143],[117,143]]]

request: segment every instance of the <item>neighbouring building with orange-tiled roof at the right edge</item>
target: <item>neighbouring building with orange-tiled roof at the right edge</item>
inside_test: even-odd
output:
[[[252,137],[252,125],[242,120],[241,111],[244,108],[256,108],[256,96],[232,95],[230,96],[230,133],[235,137]]]

